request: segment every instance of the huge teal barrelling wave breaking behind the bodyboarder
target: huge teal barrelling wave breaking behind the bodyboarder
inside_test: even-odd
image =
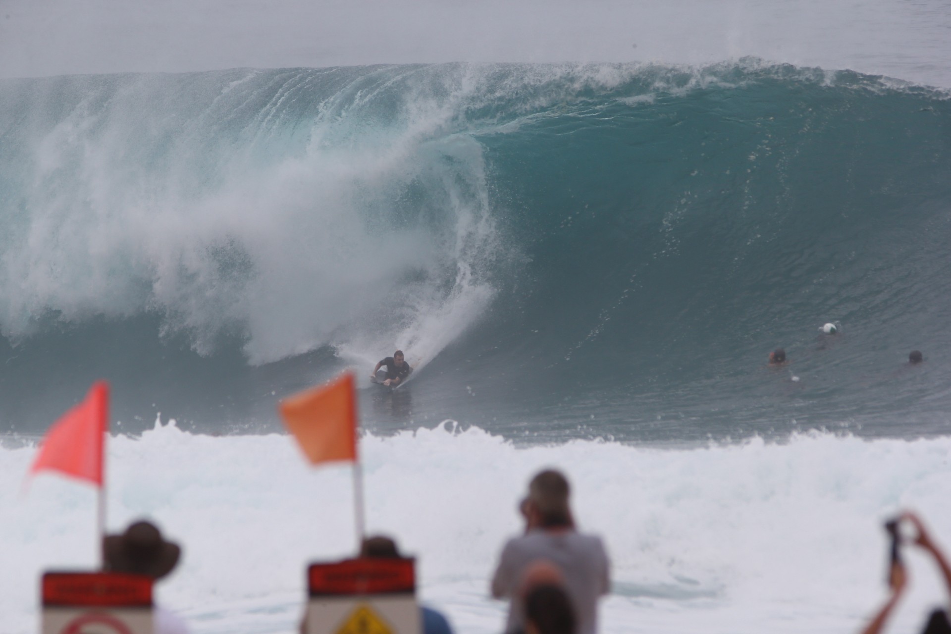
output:
[[[0,415],[257,429],[399,347],[397,427],[946,432],[949,115],[754,59],[4,80]]]

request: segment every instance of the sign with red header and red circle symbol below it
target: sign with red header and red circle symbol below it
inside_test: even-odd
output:
[[[43,575],[43,634],[153,634],[152,579],[113,572]]]

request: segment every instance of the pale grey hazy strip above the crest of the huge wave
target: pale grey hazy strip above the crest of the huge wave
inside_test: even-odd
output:
[[[0,77],[757,55],[951,86],[944,0],[0,0]]]

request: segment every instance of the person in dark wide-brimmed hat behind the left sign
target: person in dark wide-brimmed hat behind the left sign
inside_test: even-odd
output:
[[[121,535],[103,540],[106,569],[111,572],[144,574],[158,580],[171,572],[182,556],[182,548],[166,541],[154,524],[134,522]],[[152,612],[155,634],[188,634],[184,621],[165,608],[155,605]]]

